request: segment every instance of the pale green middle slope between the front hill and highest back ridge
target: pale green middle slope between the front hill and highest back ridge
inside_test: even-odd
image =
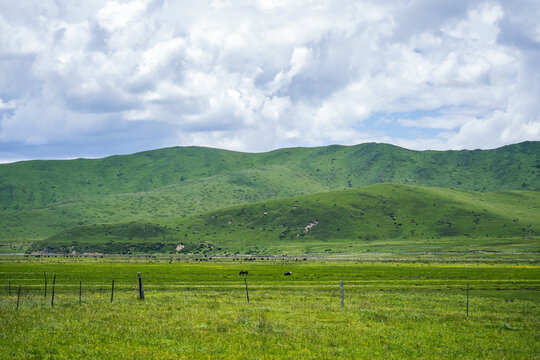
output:
[[[0,218],[0,236],[39,239],[76,225],[188,215],[325,190],[324,186],[297,176],[288,168],[241,170],[147,192],[86,196],[38,209],[5,210]]]

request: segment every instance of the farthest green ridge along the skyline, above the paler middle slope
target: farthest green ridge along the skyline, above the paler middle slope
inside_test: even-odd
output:
[[[36,208],[89,195],[147,192],[185,180],[275,165],[332,189],[380,182],[474,191],[540,189],[540,142],[473,151],[412,151],[368,143],[262,154],[176,147],[104,159],[2,164],[0,204],[3,210]]]

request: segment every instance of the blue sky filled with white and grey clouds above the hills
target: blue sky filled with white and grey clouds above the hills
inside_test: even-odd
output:
[[[540,2],[0,0],[0,162],[540,140]]]

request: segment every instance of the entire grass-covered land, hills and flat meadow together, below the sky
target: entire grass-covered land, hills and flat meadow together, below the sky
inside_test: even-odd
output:
[[[0,359],[540,358],[539,154],[364,144],[0,165],[0,253],[40,254],[0,256]]]

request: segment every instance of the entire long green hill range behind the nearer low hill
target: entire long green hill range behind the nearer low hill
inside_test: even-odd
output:
[[[540,142],[494,150],[386,144],[248,154],[177,147],[104,159],[0,165],[0,251],[69,227],[199,214],[381,182],[473,191],[540,189]],[[4,245],[4,246],[2,246]]]

